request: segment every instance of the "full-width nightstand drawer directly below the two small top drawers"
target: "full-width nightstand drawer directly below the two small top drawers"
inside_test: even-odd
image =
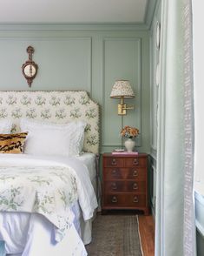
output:
[[[146,179],[146,168],[104,168],[103,179]]]

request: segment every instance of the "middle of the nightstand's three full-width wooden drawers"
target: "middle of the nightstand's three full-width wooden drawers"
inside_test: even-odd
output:
[[[145,192],[145,181],[106,181],[104,191],[109,192]]]

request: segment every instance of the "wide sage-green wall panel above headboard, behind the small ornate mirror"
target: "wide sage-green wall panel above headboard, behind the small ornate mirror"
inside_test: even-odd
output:
[[[70,90],[91,91],[90,37],[0,40],[1,90],[25,90],[21,65],[28,59],[28,45],[34,47],[33,60],[38,64],[35,90],[67,90],[69,84]]]

